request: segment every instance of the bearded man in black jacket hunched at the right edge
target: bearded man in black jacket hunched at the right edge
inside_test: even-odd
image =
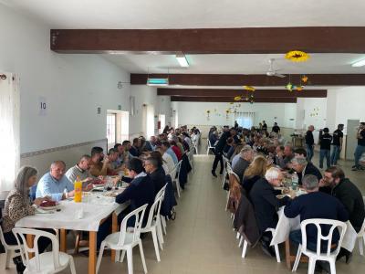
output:
[[[319,186],[330,187],[330,194],[339,199],[345,205],[349,212],[349,222],[356,232],[360,231],[365,218],[364,200],[359,188],[345,178],[344,172],[338,166],[331,166],[325,171],[323,180]],[[346,262],[349,262],[351,253],[341,248],[338,259],[346,256]]]

